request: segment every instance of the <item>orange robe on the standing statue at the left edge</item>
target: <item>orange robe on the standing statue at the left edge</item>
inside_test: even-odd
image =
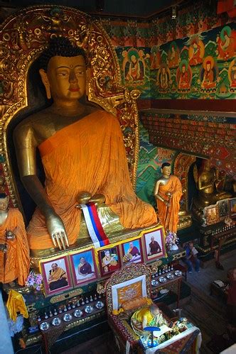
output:
[[[6,231],[12,231],[16,238],[6,241]],[[9,283],[18,278],[18,284],[24,285],[28,277],[30,258],[21,212],[10,208],[8,216],[0,226],[0,243],[7,243],[4,277],[4,253],[0,253],[0,282]]]

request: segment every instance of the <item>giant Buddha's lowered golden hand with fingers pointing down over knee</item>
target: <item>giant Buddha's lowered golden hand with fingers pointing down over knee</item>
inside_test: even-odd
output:
[[[69,247],[68,236],[65,232],[65,226],[62,219],[57,214],[51,214],[46,218],[46,226],[48,233],[53,241],[55,247],[59,247],[60,250],[65,250],[66,246]]]

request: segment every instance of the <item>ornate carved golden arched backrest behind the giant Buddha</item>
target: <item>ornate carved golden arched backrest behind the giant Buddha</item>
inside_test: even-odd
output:
[[[31,64],[55,35],[68,37],[87,52],[90,77],[87,80],[89,101],[117,115],[124,135],[127,160],[135,187],[138,157],[138,90],[121,86],[117,55],[107,33],[98,21],[77,9],[64,6],[33,6],[6,19],[0,28],[0,173],[6,179],[6,193],[11,204],[21,206],[11,169],[9,124],[18,112],[28,107],[27,80]]]

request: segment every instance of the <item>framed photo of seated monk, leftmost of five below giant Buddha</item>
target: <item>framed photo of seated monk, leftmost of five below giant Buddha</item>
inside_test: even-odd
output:
[[[60,294],[73,288],[68,256],[41,260],[39,267],[43,275],[45,296]]]

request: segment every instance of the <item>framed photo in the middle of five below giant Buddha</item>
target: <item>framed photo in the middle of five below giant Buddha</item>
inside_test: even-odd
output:
[[[98,252],[101,277],[112,274],[121,267],[119,246],[113,246]]]

